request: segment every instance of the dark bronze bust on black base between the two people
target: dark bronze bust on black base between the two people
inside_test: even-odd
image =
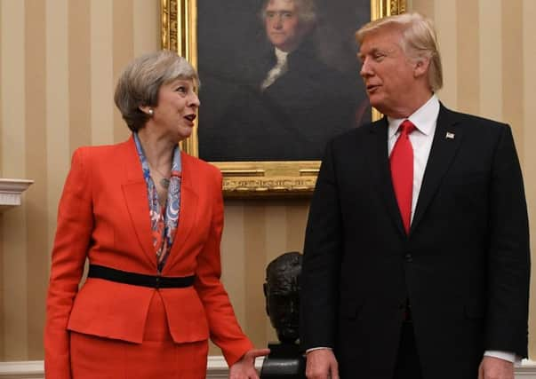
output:
[[[305,360],[296,343],[300,320],[300,272],[301,254],[297,251],[276,257],[266,268],[266,312],[280,343],[268,343],[270,354],[262,365],[262,379],[305,378]]]

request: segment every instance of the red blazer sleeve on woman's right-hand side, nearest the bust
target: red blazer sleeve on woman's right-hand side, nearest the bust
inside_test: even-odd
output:
[[[253,345],[238,325],[228,294],[220,281],[220,241],[223,229],[220,172],[213,178],[210,191],[213,198],[212,223],[204,248],[197,257],[195,286],[204,304],[212,342],[220,347],[230,367]]]

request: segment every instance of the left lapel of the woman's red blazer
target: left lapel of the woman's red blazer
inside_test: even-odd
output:
[[[155,266],[156,269],[156,254],[149,218],[147,185],[143,178],[140,158],[132,137],[125,144],[124,157],[126,172],[126,181],[123,184],[124,201],[131,217],[132,229],[140,242],[140,247],[148,257],[150,264]]]

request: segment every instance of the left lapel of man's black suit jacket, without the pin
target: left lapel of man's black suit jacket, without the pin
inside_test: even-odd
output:
[[[371,134],[374,139],[371,144],[373,151],[367,155],[372,157],[374,161],[369,165],[372,170],[372,176],[376,178],[376,182],[378,183],[377,188],[380,190],[381,197],[383,198],[382,202],[386,205],[389,217],[393,220],[400,233],[405,235],[389,169],[388,121],[386,117],[372,124]]]

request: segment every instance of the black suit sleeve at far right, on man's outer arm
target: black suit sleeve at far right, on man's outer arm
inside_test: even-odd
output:
[[[530,247],[523,178],[510,128],[492,163],[486,350],[527,356]]]

